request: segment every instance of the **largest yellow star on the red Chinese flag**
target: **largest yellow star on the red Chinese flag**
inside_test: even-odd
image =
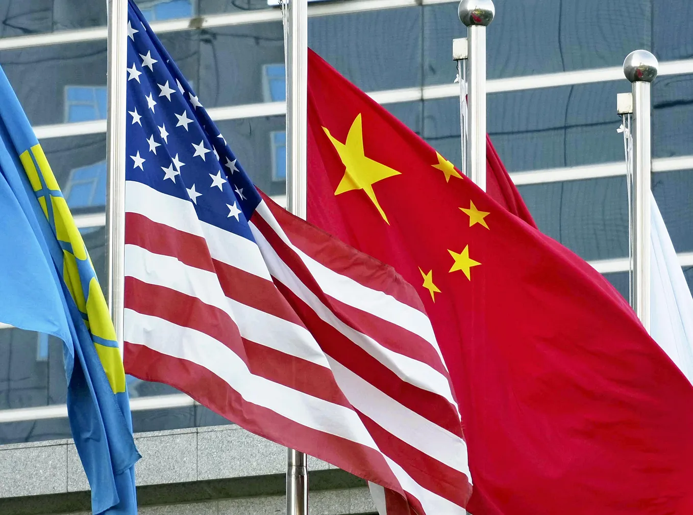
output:
[[[399,175],[401,172],[380,164],[378,161],[373,161],[373,159],[369,159],[364,155],[361,114],[359,113],[356,116],[356,120],[353,120],[351,124],[349,134],[347,134],[347,143],[341,143],[333,138],[326,127],[322,127],[322,129],[327,134],[327,137],[330,138],[332,144],[335,145],[342,163],[347,167],[347,170],[344,170],[344,177],[342,177],[340,185],[335,190],[335,195],[351,190],[364,190],[374,206],[378,208],[378,213],[383,217],[383,220],[387,222],[385,212],[380,207],[378,199],[376,199],[376,193],[373,191],[373,184],[387,179],[387,177]]]

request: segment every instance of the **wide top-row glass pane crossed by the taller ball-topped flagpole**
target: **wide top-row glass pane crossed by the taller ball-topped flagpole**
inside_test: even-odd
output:
[[[633,48],[651,47],[650,3],[496,0],[495,19],[488,29],[488,76],[620,66]],[[457,3],[426,6],[423,11],[425,81],[452,82],[451,41],[466,37]]]

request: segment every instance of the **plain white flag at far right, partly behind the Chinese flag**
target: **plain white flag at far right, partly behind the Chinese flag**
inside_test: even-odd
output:
[[[693,383],[693,297],[651,197],[651,335]]]

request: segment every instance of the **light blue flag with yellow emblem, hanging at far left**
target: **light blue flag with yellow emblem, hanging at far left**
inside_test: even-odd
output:
[[[70,427],[94,514],[134,515],[130,404],[94,266],[0,69],[0,322],[64,341]]]

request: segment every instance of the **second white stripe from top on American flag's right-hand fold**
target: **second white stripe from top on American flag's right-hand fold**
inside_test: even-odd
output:
[[[370,336],[358,332],[356,329],[342,322],[342,320],[337,318],[337,316],[315,296],[315,293],[310,291],[310,289],[299,280],[294,271],[279,258],[279,255],[272,249],[272,246],[265,240],[265,237],[258,231],[252,222],[250,223],[250,227],[263,253],[265,263],[267,263],[267,267],[270,269],[270,273],[290,289],[298,298],[306,302],[321,320],[324,320],[324,322],[337,329],[337,331],[349,338],[353,343],[356,343],[356,345],[368,352],[368,354],[389,368],[389,370],[392,370],[392,372],[403,381],[407,381],[423,390],[441,395],[441,397],[447,399],[450,404],[457,406],[455,399],[453,399],[452,392],[450,392],[450,383],[448,383],[448,379],[443,374],[426,363],[383,347],[383,345],[380,345]]]

